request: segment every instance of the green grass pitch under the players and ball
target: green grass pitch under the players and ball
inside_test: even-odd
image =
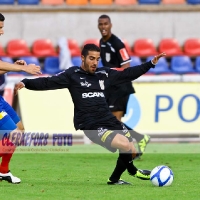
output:
[[[92,153],[94,152],[94,153]],[[14,154],[10,168],[22,179],[21,184],[0,182],[1,199],[37,200],[198,200],[199,144],[149,144],[142,159],[135,161],[141,169],[167,165],[174,172],[169,187],[155,187],[150,181],[129,176],[122,178],[130,186],[108,186],[117,153],[108,153],[97,145],[69,147],[65,153]]]

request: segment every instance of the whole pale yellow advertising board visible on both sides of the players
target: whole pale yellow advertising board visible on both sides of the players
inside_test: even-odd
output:
[[[200,134],[199,83],[134,83],[123,121],[141,133]],[[75,131],[74,106],[67,89],[19,91],[26,130]]]

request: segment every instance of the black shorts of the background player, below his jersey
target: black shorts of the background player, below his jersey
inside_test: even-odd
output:
[[[130,95],[126,95],[120,99],[117,99],[114,103],[112,101],[109,102],[109,108],[111,112],[115,111],[123,111],[126,114],[127,103]]]

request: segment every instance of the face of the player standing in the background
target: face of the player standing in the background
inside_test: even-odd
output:
[[[98,28],[102,37],[107,37],[111,35],[112,24],[108,18],[100,18],[98,20]]]

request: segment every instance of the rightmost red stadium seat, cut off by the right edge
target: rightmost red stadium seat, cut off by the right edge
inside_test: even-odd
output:
[[[200,56],[200,39],[186,40],[183,49],[188,56]]]

